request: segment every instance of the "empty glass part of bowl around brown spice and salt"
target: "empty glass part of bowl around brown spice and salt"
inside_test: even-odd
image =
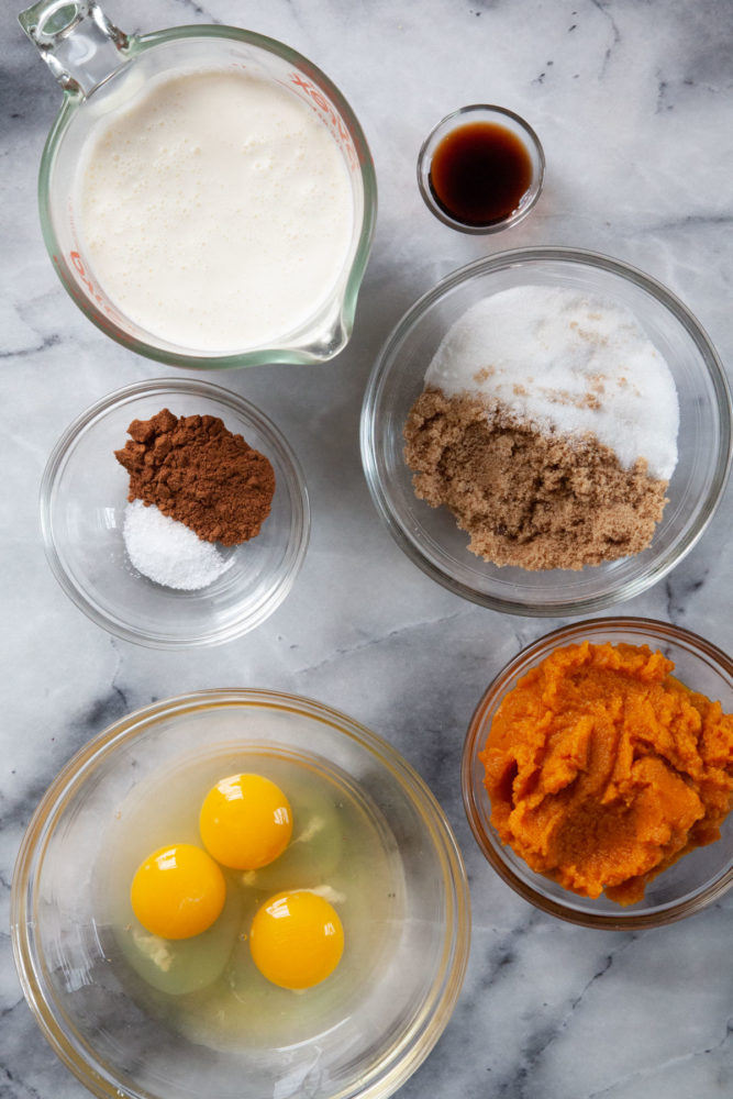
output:
[[[130,563],[122,536],[129,475],[114,457],[127,426],[164,408],[220,417],[269,458],[276,489],[260,533],[231,551],[227,569],[196,591],[155,584]],[[308,547],[310,508],[300,464],[274,423],[218,386],[188,378],[141,381],[104,397],[67,428],[41,482],[46,557],[69,598],[110,633],[152,648],[238,637],[288,595]]]

